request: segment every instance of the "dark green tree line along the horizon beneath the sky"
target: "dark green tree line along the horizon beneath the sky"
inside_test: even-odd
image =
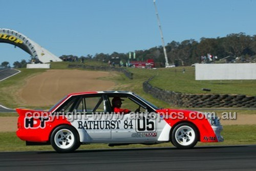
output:
[[[167,52],[167,58],[169,64],[175,64],[176,66],[187,66],[193,63],[200,63],[202,56],[211,54],[217,56],[217,60],[231,56],[239,58],[239,62],[256,62],[256,35],[249,36],[245,33],[229,34],[226,37],[217,38],[205,38],[202,37],[200,41],[194,39],[184,40],[182,42],[172,41],[165,46]],[[133,53],[132,53],[133,54]],[[113,52],[112,54],[97,53],[87,56],[74,56],[74,55],[62,55],[60,58],[63,61],[84,61],[94,60],[101,62],[119,62],[123,63],[127,61],[145,61],[147,59],[154,59],[156,66],[164,67],[165,58],[162,46],[155,46],[148,50],[135,51],[135,58],[129,53]],[[32,61],[31,59],[29,63]],[[37,60],[37,59],[34,59]],[[38,62],[35,61],[36,63]],[[15,68],[26,67],[26,60],[13,63]],[[9,66],[9,62],[5,61],[2,66]]]

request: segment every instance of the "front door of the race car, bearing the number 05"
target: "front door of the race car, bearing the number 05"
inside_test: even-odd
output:
[[[121,108],[129,109],[132,112],[127,114],[114,114],[112,120],[117,121],[119,127],[111,130],[111,138],[117,142],[146,142],[156,140],[157,123],[156,119],[147,118],[147,106],[130,94],[109,94],[108,102],[114,96],[119,96],[122,101]],[[135,111],[140,108],[140,113]]]

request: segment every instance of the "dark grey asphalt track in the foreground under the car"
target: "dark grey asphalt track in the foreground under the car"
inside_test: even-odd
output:
[[[256,145],[3,152],[0,170],[256,170]]]

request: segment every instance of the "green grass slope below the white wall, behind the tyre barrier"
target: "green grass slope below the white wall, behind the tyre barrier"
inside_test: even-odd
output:
[[[183,68],[185,72],[183,73]],[[195,67],[175,67],[157,69],[157,77],[150,83],[164,90],[191,94],[245,94],[256,95],[256,80],[196,81]],[[202,88],[211,89],[210,92]]]

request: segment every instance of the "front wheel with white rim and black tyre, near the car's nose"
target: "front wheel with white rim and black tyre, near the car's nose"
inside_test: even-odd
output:
[[[198,131],[193,124],[181,123],[174,128],[171,138],[178,149],[190,149],[197,144]]]

